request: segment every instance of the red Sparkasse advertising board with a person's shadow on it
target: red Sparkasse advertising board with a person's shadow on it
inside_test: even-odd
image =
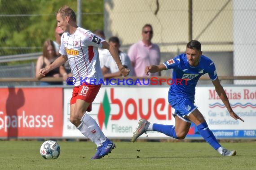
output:
[[[0,138],[62,137],[62,88],[0,88]]]

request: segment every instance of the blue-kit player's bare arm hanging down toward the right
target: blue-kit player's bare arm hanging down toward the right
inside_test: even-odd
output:
[[[216,78],[216,80],[212,81],[212,84],[214,85],[215,90],[216,90],[217,94],[220,96],[222,102],[225,104],[227,110],[230,112],[230,116],[232,118],[234,118],[235,120],[239,119],[244,122],[244,120],[242,118],[240,118],[237,114],[235,114],[233,109],[231,108],[229,99],[228,99],[228,97],[225,93],[225,90],[223,89],[218,77]]]

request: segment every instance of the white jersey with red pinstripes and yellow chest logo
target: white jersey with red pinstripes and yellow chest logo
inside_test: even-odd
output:
[[[62,34],[60,54],[68,58],[76,80],[75,86],[80,85],[80,80],[90,83],[89,79],[93,79],[98,84],[103,79],[98,48],[102,47],[104,41],[81,27],[78,27],[74,34]]]

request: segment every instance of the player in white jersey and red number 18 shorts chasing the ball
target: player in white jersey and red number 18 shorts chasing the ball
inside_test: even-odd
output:
[[[129,74],[129,69],[122,65],[115,47],[91,31],[76,25],[75,12],[67,5],[58,10],[56,18],[57,26],[64,31],[61,38],[61,56],[53,64],[41,69],[40,74],[45,76],[50,70],[61,66],[68,59],[72,75],[76,80],[71,97],[70,121],[84,136],[97,144],[97,152],[92,159],[99,159],[110,153],[115,148],[115,144],[106,138],[96,121],[86,113],[92,110],[92,102],[101,87],[98,82],[103,79],[98,48],[110,51],[123,76]],[[88,83],[84,82],[80,85],[80,79],[85,80],[86,77],[88,77],[86,79]],[[96,85],[90,85],[89,79],[96,80]]]

